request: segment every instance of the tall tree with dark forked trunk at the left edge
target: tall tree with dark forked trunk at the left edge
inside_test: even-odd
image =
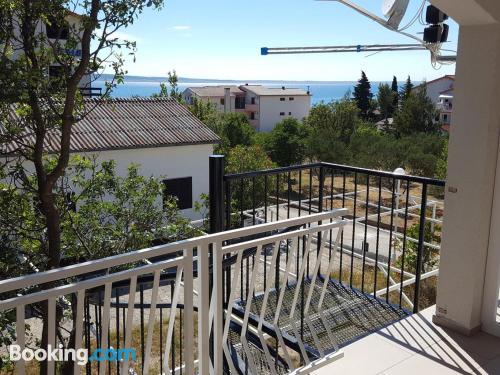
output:
[[[79,85],[89,71],[94,79],[106,68],[114,72],[101,100],[123,82],[123,54],[134,54],[135,42],[118,38],[117,31],[132,24],[148,7],[162,0],[4,0],[0,11],[0,143],[12,156],[11,178],[22,192],[33,191],[36,202],[39,249],[46,255],[40,270],[59,267],[62,259],[62,225],[68,212],[57,189],[70,160],[71,134],[88,107]],[[79,22],[68,19],[78,12]],[[57,30],[49,39],[40,23]],[[62,38],[62,34],[66,34]],[[67,37],[66,37],[67,36]],[[69,51],[69,53],[68,53]],[[71,53],[71,51],[79,51]],[[49,67],[57,74],[47,76]],[[13,114],[15,112],[15,114]],[[57,152],[47,152],[48,136],[57,135]],[[27,137],[29,135],[29,137]],[[24,169],[27,163],[34,172]],[[50,285],[49,285],[50,286]],[[43,311],[47,322],[46,304]],[[44,324],[42,346],[47,345]],[[45,372],[42,368],[42,372]]]

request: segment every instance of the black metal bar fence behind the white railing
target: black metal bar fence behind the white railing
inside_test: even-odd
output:
[[[337,251],[335,279],[413,312],[435,303],[444,181],[331,163],[223,169],[222,157],[211,159],[212,232],[347,208],[351,223],[328,250]]]

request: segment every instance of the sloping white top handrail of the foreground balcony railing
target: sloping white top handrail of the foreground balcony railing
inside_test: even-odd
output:
[[[26,287],[54,282],[69,277],[81,276],[92,272],[109,269],[126,263],[137,262],[143,259],[153,258],[161,255],[173,254],[186,248],[201,247],[209,243],[219,243],[232,238],[245,237],[256,233],[269,232],[288,226],[304,225],[309,222],[327,220],[331,217],[342,216],[347,213],[346,209],[325,211],[308,216],[296,217],[277,222],[255,225],[251,227],[238,228],[226,232],[202,235],[187,240],[172,242],[165,245],[154,246],[146,249],[136,250],[128,253],[114,255],[107,258],[91,260],[83,263],[60,267],[44,272],[18,276],[12,279],[0,281],[0,293],[19,290]],[[205,246],[203,246],[205,247]]]

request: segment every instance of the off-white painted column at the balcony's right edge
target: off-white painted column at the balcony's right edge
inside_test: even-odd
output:
[[[498,24],[461,26],[434,320],[464,333],[481,326],[490,229],[500,244],[500,228],[491,228],[492,210],[500,214],[500,207],[493,207],[500,134],[499,46]]]

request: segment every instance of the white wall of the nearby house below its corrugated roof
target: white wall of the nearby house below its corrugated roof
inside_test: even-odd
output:
[[[178,178],[193,177],[193,207],[202,193],[208,194],[208,158],[213,145],[157,147],[147,149],[102,151],[89,153],[98,155],[98,160],[115,160],[118,175],[125,176],[131,163],[141,165],[143,176]],[[191,220],[200,218],[193,210],[183,210]]]

